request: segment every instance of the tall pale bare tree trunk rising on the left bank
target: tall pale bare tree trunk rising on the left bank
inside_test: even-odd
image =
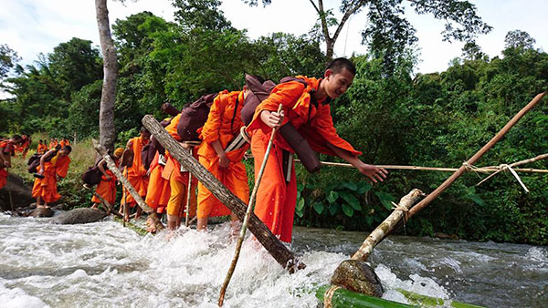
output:
[[[100,49],[103,56],[103,84],[100,95],[99,141],[105,149],[113,149],[116,132],[114,129],[114,101],[118,65],[116,48],[111,37],[107,0],[95,0],[97,26],[99,27]]]

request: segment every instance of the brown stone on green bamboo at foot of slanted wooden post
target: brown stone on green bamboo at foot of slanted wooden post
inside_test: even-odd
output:
[[[333,272],[332,284],[357,293],[381,297],[384,290],[373,269],[365,262],[346,260]]]

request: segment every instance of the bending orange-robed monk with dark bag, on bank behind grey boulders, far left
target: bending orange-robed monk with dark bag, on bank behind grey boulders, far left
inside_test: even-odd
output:
[[[65,146],[59,150],[50,149],[40,159],[38,174],[43,177],[42,179],[37,178],[32,187],[32,196],[37,199],[38,208],[47,208],[49,207],[48,203],[61,198],[61,195],[58,194],[57,182],[67,176],[68,165],[70,165],[68,154],[71,151],[70,146]]]

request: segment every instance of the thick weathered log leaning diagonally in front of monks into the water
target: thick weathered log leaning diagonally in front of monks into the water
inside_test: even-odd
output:
[[[158,123],[151,115],[142,118],[142,124],[147,128],[155,139],[158,139],[163,148],[169,150],[170,154],[189,170],[196,179],[204,184],[207,190],[211,191],[216,199],[220,200],[237,215],[240,221],[244,220],[247,204],[237,198],[230,190],[227,189],[219,180],[216,179],[207,169],[204,168],[192,155],[173,138],[167,131]],[[290,272],[295,272],[305,267],[305,265],[290,252],[290,250],[279,241],[269,228],[258,219],[255,214],[249,217],[249,231],[251,231],[257,241],[259,241],[272,257],[279,264],[288,269]]]

